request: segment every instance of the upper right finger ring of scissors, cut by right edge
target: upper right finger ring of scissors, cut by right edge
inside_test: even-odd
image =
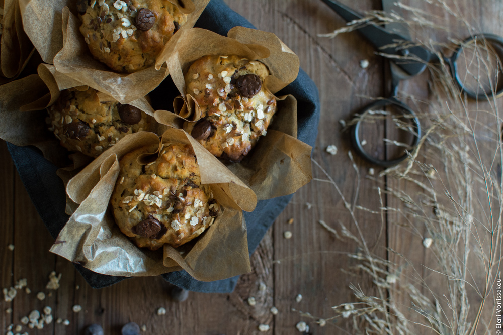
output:
[[[493,94],[492,92],[484,92],[484,93],[480,93],[480,94],[475,94],[473,91],[466,89],[465,86],[463,85],[463,83],[461,82],[461,79],[459,78],[458,63],[457,63],[458,57],[459,57],[459,52],[463,49],[463,46],[465,46],[466,44],[468,44],[471,41],[476,41],[477,39],[479,39],[479,40],[484,39],[484,40],[490,42],[492,45],[499,46],[501,48],[501,50],[503,50],[503,38],[501,38],[498,35],[484,33],[484,34],[478,34],[478,35],[468,37],[466,40],[463,41],[463,43],[461,45],[459,45],[456,48],[456,51],[454,51],[454,54],[450,58],[452,77],[456,80],[456,84],[458,85],[459,89],[461,91],[465,92],[466,95],[468,95],[472,99],[489,100],[490,98],[493,98],[493,97],[499,98],[499,97],[503,96],[503,87],[501,87],[501,89],[496,91],[495,94]],[[501,55],[501,56],[503,56],[503,55]],[[503,57],[500,57],[500,60],[503,62]]]

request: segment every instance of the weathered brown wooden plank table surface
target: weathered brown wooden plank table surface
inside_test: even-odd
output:
[[[376,187],[388,181],[384,177],[362,178],[357,187],[358,174],[367,175],[371,166],[355,157],[356,170],[353,168],[348,157],[349,135],[341,132],[339,120],[348,119],[354,111],[365,106],[369,102],[367,97],[387,94],[386,62],[355,32],[334,39],[318,37],[317,34],[331,32],[345,24],[320,0],[226,1],[259,29],[275,33],[299,56],[301,67],[318,86],[321,98],[321,122],[313,159],[337,182],[350,201],[358,196],[357,204],[378,210],[381,204]],[[478,23],[481,31],[503,34],[503,3],[499,0],[453,1],[447,1],[449,6],[456,7],[470,23]],[[381,8],[377,0],[342,2],[361,12]],[[429,5],[426,1],[410,0],[406,3],[422,8],[456,34],[468,34],[459,20],[441,12],[438,2]],[[449,37],[435,28],[427,28],[426,32],[441,42],[447,42]],[[369,66],[362,68],[361,60],[368,60]],[[425,73],[402,83],[400,90],[429,99],[428,78]],[[383,127],[370,130],[369,145],[374,144],[371,143],[373,138],[382,138],[389,132]],[[337,155],[325,152],[332,144],[339,149]],[[381,151],[380,154],[385,153]],[[379,171],[376,168],[376,172]],[[313,177],[326,179],[314,165]],[[22,332],[82,334],[86,325],[99,323],[106,334],[119,334],[123,324],[134,321],[145,324],[149,334],[256,334],[259,324],[268,324],[267,333],[279,335],[297,333],[296,323],[306,321],[313,334],[353,333],[350,325],[341,319],[331,320],[324,327],[315,321],[332,317],[332,306],[354,301],[348,288],[350,283],[359,285],[367,294],[375,292],[370,279],[350,277],[341,271],[354,265],[344,254],[354,252],[356,244],[336,239],[318,224],[319,220],[324,220],[330,227],[339,229],[338,222],[344,222],[356,232],[341,196],[328,183],[313,181],[294,195],[251,257],[253,271],[241,276],[233,293],[191,292],[187,301],[177,303],[170,300],[170,285],[160,277],[132,278],[95,290],[86,284],[70,262],[49,253],[53,239],[33,207],[4,142],[0,143],[0,180],[0,286],[8,288],[20,278],[26,278],[32,292],[20,291],[13,302],[0,302],[1,334],[9,324],[20,324],[22,316],[33,309],[42,310],[44,306],[52,308],[54,319],[68,319],[69,325],[52,322],[42,330],[29,330],[25,326]],[[293,224],[287,223],[290,218]],[[369,248],[377,255],[389,257],[387,248],[392,248],[419,263],[435,262],[423,248],[421,238],[391,225],[392,217],[381,224],[374,214],[359,211],[357,219]],[[288,240],[283,237],[287,230],[293,233]],[[15,246],[13,251],[8,249],[10,244]],[[52,271],[62,274],[61,286],[56,291],[45,289]],[[267,289],[260,290],[260,283]],[[35,298],[41,291],[46,294],[43,301]],[[300,302],[295,300],[297,294],[303,296]],[[257,304],[248,305],[248,297],[255,297]],[[82,306],[79,313],[72,311],[76,304]],[[278,308],[278,315],[269,312],[272,306]],[[167,313],[158,316],[159,307],[164,307]],[[4,312],[9,308],[12,313]],[[314,318],[301,315],[299,310]]]

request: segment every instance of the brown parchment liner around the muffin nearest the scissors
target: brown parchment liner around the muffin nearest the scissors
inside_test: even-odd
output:
[[[298,57],[276,35],[255,29],[234,27],[224,37],[193,28],[168,45],[170,55],[166,62],[182,96],[174,102],[175,114],[157,110],[155,118],[176,128],[182,128],[184,121],[196,122],[201,118],[197,102],[191,92],[185,91],[184,73],[204,55],[240,55],[260,60],[271,73],[263,85],[273,94],[295,80],[299,71]],[[312,147],[297,139],[297,100],[292,95],[277,99],[278,111],[267,135],[260,138],[242,162],[227,164],[259,200],[294,193],[312,179]]]

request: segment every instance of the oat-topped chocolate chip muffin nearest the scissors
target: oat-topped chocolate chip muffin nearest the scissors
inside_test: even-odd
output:
[[[276,113],[276,99],[263,85],[267,67],[240,56],[204,56],[185,74],[187,93],[202,117],[184,129],[216,157],[239,162],[253,148]]]

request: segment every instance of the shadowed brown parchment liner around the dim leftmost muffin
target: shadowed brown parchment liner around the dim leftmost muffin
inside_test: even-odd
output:
[[[68,151],[59,144],[54,134],[49,132],[45,122],[48,117],[45,108],[57,100],[61,90],[71,87],[81,90],[88,88],[48,64],[40,64],[38,74],[1,85],[0,138],[17,146],[36,146],[46,159],[58,167],[71,164]],[[99,95],[102,101],[113,101],[108,95]],[[153,116],[154,110],[145,97],[130,104]],[[152,122],[155,124],[153,120]],[[162,128],[154,131],[159,132]]]

